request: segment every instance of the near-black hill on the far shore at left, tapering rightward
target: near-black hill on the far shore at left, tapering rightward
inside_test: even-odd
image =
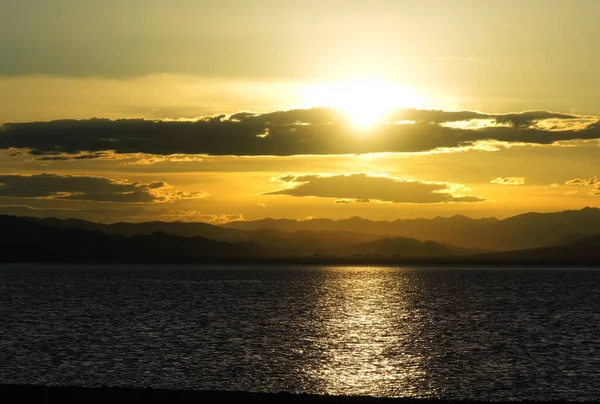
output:
[[[265,254],[257,244],[231,244],[164,232],[131,237],[109,235],[0,215],[0,260],[3,262],[203,262]]]

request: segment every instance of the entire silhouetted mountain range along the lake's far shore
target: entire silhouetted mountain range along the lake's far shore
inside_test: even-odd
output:
[[[600,209],[376,222],[102,224],[0,215],[2,261],[600,263]]]

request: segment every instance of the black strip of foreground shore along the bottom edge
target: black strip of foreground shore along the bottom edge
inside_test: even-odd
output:
[[[161,401],[161,402],[257,402],[257,403],[345,403],[345,404],[477,404],[483,401],[451,401],[415,398],[376,398],[356,396],[319,396],[291,393],[246,393],[227,391],[192,391],[134,389],[121,387],[74,387],[74,386],[31,386],[0,385],[0,402],[119,402],[119,401]],[[566,401],[508,401],[507,403],[567,403]],[[581,403],[581,402],[578,402]],[[588,401],[587,403],[592,403]],[[487,403],[489,404],[489,403]]]

